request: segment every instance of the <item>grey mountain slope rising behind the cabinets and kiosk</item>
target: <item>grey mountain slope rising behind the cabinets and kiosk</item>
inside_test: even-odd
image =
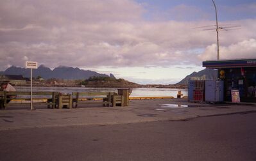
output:
[[[217,70],[205,68],[200,72],[193,72],[191,75],[187,75],[182,81],[177,84],[187,84],[189,80],[214,80],[218,77]]]

